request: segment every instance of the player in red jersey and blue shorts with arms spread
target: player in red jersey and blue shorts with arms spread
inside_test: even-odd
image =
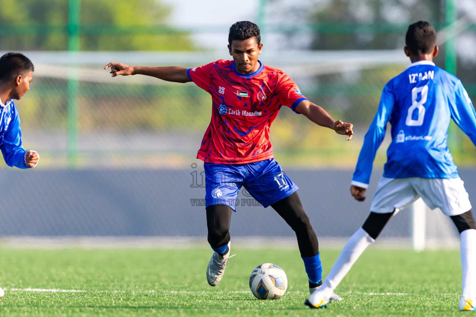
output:
[[[109,63],[104,68],[111,67],[112,77],[141,74],[178,83],[193,81],[212,96],[211,122],[197,154],[206,173],[208,242],[214,250],[207,269],[208,284],[218,285],[225,272],[233,202],[243,186],[265,208],[273,207],[296,232],[312,293],[322,284],[316,233],[297,195],[297,186],[274,160],[269,127],[281,106],[288,106],[337,134],[347,135],[346,140],[352,138],[353,125],[332,119],[324,109],[307,100],[282,70],[258,60],[263,44],[256,24],[233,24],[228,43],[233,60],[221,59],[201,67]],[[334,295],[333,299],[340,298]]]

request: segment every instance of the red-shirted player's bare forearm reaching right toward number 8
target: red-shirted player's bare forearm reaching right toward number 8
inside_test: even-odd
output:
[[[346,141],[352,139],[354,125],[340,120],[334,121],[332,117],[322,107],[317,106],[309,100],[301,101],[295,108],[295,111],[307,116],[309,120],[316,125],[325,126],[336,131],[337,134],[348,135]]]

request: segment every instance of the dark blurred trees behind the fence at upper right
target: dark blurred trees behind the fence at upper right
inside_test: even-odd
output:
[[[444,21],[444,0],[332,0],[319,5],[311,22],[324,23],[336,33],[316,31],[314,49],[393,49],[404,41],[400,30],[388,34],[387,23],[395,26],[418,20]],[[347,27],[346,27],[347,24]],[[349,25],[350,24],[350,25]],[[374,25],[372,25],[374,24]],[[437,28],[438,26],[435,25]],[[348,29],[351,29],[348,32]],[[391,26],[390,26],[391,28]],[[355,33],[357,29],[357,33]],[[340,30],[340,31],[339,31]],[[340,34],[339,34],[340,33]]]

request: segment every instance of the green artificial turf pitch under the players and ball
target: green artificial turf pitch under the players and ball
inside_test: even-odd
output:
[[[0,249],[0,316],[461,316],[458,250],[366,250],[325,309],[303,305],[307,277],[297,250],[232,249],[218,287],[207,284],[211,250]],[[338,250],[321,250],[324,275]],[[286,294],[258,300],[251,271],[275,263]],[[34,292],[44,288],[83,292]],[[387,294],[388,293],[388,294]]]

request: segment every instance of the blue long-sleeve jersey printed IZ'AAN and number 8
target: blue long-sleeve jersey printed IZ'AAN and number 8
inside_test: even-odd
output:
[[[451,119],[476,145],[476,113],[461,81],[430,61],[411,64],[384,87],[352,184],[367,188],[387,122],[392,143],[384,177],[459,177],[446,144]]]

